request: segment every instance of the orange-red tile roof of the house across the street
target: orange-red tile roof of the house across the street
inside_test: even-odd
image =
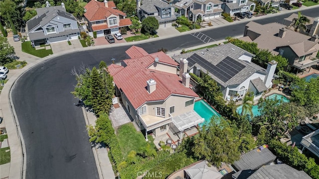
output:
[[[112,8],[115,6],[113,1],[108,1],[108,3],[109,7],[106,7],[104,2],[91,0],[84,6],[84,8],[86,9],[84,16],[89,21],[105,20],[106,17],[110,16],[111,14],[126,16],[126,14],[121,10]]]

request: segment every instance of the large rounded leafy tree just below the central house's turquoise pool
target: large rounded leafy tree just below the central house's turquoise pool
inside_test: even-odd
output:
[[[221,163],[232,164],[239,159],[240,141],[229,123],[222,118],[212,118],[207,126],[194,137],[193,152],[195,156],[221,166]]]

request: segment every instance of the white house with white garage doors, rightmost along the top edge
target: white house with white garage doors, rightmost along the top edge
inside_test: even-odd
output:
[[[234,15],[235,12],[253,12],[256,7],[256,3],[249,0],[224,0],[221,8],[224,12]]]

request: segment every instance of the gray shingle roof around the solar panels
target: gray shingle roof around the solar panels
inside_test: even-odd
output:
[[[237,47],[234,44],[227,43],[224,45],[219,45],[216,47],[208,48],[208,50],[197,50],[189,53],[184,53],[176,56],[172,56],[172,58],[179,63],[179,60],[181,58],[186,58],[188,60],[188,69],[193,68],[194,66],[199,67],[202,69],[202,71],[207,70],[208,67],[199,65],[196,61],[193,61],[189,59],[193,54],[197,54],[201,56],[203,59],[207,61],[207,65],[217,65],[219,62],[224,60],[227,56],[234,59],[236,62],[244,65],[245,67],[240,70],[237,74],[235,74],[232,78],[230,78],[228,81],[224,82],[222,79],[218,78],[217,75],[209,73],[209,75],[221,86],[227,87],[230,85],[238,85],[241,84],[243,81],[245,81],[248,77],[253,75],[254,73],[258,72],[261,74],[266,74],[266,69],[262,68],[255,63],[247,62],[244,60],[238,59],[242,55],[246,54],[248,56],[255,56],[254,54],[251,54],[247,52],[246,50],[243,50],[239,47]],[[203,55],[204,54],[204,55]]]

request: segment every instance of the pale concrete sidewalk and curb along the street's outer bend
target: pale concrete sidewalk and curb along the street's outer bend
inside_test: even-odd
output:
[[[310,6],[310,7],[303,8],[303,9],[299,8],[299,9],[294,9],[294,10],[289,10],[289,11],[287,10],[287,11],[281,12],[281,13],[268,14],[267,17],[297,12],[300,10],[316,8],[318,6],[319,5],[314,5],[314,6]],[[259,16],[259,17],[256,17],[254,19],[249,19],[249,20],[235,21],[235,22],[232,22],[230,24],[223,24],[223,25],[205,27],[203,29],[196,29],[196,30],[190,30],[187,32],[181,32],[180,35],[185,35],[185,34],[194,33],[194,32],[198,32],[198,31],[210,30],[213,28],[228,26],[228,25],[235,24],[235,23],[247,23],[249,21],[261,19],[262,17],[265,17],[265,16]],[[78,51],[87,51],[87,50],[96,50],[96,49],[102,49],[102,48],[112,48],[112,47],[118,47],[118,46],[136,45],[136,44],[140,44],[140,43],[147,43],[150,41],[154,42],[154,41],[167,39],[167,38],[171,38],[171,37],[175,37],[175,35],[167,35],[164,37],[151,38],[151,39],[147,39],[147,40],[143,40],[143,41],[119,43],[119,44],[114,44],[112,46],[111,45],[101,45],[101,46],[94,46],[94,47],[86,47],[84,49],[82,47],[82,48],[67,50],[64,52],[59,52],[59,53],[38,59],[35,62],[26,65],[24,68],[21,69],[21,71],[14,74],[7,81],[7,83],[4,85],[4,87],[1,91],[1,94],[0,94],[0,107],[1,107],[0,109],[2,111],[5,127],[7,129],[8,138],[10,140],[11,162],[10,162],[10,169],[9,169],[9,179],[19,179],[19,178],[25,179],[25,170],[26,170],[25,145],[24,145],[23,136],[22,136],[21,131],[20,131],[19,123],[18,123],[16,114],[15,114],[14,105],[12,103],[12,97],[11,97],[11,89],[14,88],[16,80],[18,80],[25,72],[32,69],[33,67],[36,67],[37,65],[40,65],[40,64],[46,62],[47,60],[50,60],[54,57],[65,55],[68,53],[73,53],[73,52],[78,52]],[[205,45],[207,45],[207,44],[205,44]],[[99,173],[99,176],[100,176],[100,173]]]

